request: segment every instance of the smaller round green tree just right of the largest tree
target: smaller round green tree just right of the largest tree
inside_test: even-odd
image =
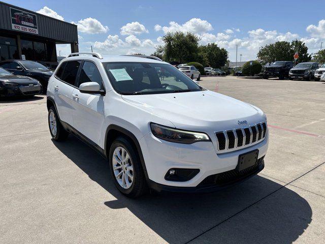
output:
[[[210,65],[213,68],[221,68],[227,62],[228,51],[218,47],[215,43],[200,46],[199,53],[203,53],[203,57],[206,57],[207,62],[204,62],[205,60],[201,61],[206,66]]]

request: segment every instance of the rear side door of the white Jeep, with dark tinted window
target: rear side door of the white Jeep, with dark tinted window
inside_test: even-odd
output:
[[[72,60],[61,64],[55,74],[54,98],[60,120],[74,126],[72,92],[75,89],[76,78],[81,60]]]

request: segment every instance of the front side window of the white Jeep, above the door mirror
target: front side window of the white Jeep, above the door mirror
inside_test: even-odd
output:
[[[85,61],[82,65],[80,78],[77,86],[79,87],[80,84],[85,82],[96,82],[101,86],[101,89],[103,89],[102,76],[99,70],[97,69],[96,65],[89,61]]]

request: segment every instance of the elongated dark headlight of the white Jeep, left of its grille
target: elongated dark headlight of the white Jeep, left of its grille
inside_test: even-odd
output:
[[[150,127],[151,132],[155,137],[165,141],[183,144],[192,144],[198,141],[210,141],[209,136],[201,132],[182,131],[154,123],[151,123]]]

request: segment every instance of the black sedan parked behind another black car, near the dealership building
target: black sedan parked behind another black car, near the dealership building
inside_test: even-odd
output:
[[[46,93],[49,78],[53,74],[53,71],[44,65],[30,60],[6,60],[0,62],[0,67],[14,75],[23,75],[37,79],[41,82],[44,93]]]

